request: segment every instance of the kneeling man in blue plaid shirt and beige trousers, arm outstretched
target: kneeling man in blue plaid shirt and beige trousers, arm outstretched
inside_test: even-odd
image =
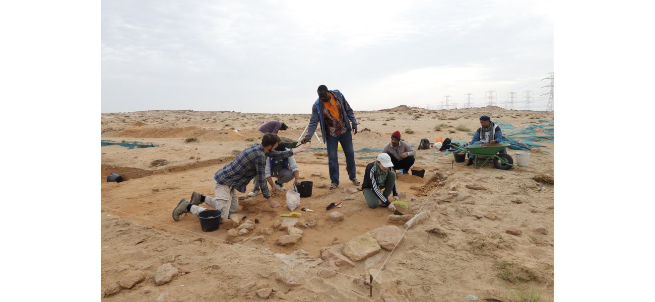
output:
[[[280,137],[273,133],[267,133],[261,138],[261,144],[253,144],[243,150],[233,161],[216,171],[214,175],[214,193],[216,197],[209,197],[198,192],[191,194],[191,201],[183,198],[179,201],[178,206],[173,209],[173,220],[179,221],[180,216],[191,212],[198,215],[199,212],[206,210],[198,207],[200,203],[206,203],[210,207],[221,210],[221,220],[227,220],[231,214],[236,213],[239,207],[239,199],[236,191],[246,193],[246,186],[257,176],[261,193],[269,202],[271,207],[280,207],[280,204],[274,201],[269,192],[269,186],[266,184],[266,157],[274,159],[289,158],[299,152],[305,152],[309,145],[300,146],[294,150],[275,151]],[[273,188],[275,190],[275,188]]]

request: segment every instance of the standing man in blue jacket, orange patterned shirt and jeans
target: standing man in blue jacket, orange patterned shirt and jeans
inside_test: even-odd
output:
[[[337,145],[341,143],[343,154],[346,156],[346,171],[348,178],[355,186],[360,186],[355,175],[355,152],[352,147],[352,135],[350,131],[357,134],[357,120],[355,114],[343,93],[339,90],[327,90],[327,86],[318,86],[318,99],[312,106],[312,118],[309,120],[307,135],[302,143],[312,139],[318,123],[321,124],[323,143],[327,144],[327,167],[329,168],[329,179],[332,184],[330,190],[339,186],[339,160],[337,159]],[[352,126],[350,126],[352,123]]]

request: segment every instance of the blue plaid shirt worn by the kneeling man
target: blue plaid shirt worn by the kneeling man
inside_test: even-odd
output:
[[[264,153],[264,147],[261,144],[253,144],[243,150],[233,161],[216,171],[214,180],[219,184],[235,188],[238,192],[246,193],[246,186],[257,175],[259,188],[265,198],[271,197],[269,186],[266,184],[266,156],[280,159],[293,156],[293,151],[274,151],[268,154]]]

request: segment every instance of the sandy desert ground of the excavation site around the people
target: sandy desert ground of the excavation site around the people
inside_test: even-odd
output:
[[[525,127],[551,114],[486,107],[460,110],[424,110],[398,107],[373,112],[356,112],[360,133],[354,135],[355,150],[383,148],[390,133],[402,132],[402,139],[415,150],[422,138],[450,137],[470,141],[467,131],[479,126],[482,114],[493,120]],[[255,229],[236,239],[227,238],[227,229],[203,232],[198,218],[189,214],[179,222],[171,218],[179,199],[190,198],[197,190],[213,195],[212,177],[217,169],[234,158],[246,146],[259,141],[257,128],[269,120],[282,120],[290,126],[280,135],[297,139],[309,122],[309,114],[253,114],[241,112],[198,112],[192,110],[153,110],[102,114],[101,138],[111,141],[155,143],[153,148],[128,149],[103,146],[101,150],[101,292],[107,301],[248,301],[262,299],[257,290],[270,288],[268,299],[289,301],[468,301],[475,295],[485,301],[519,301],[515,295],[540,294],[540,301],[553,294],[553,190],[551,184],[536,182],[533,176],[553,175],[553,144],[533,150],[528,167],[508,171],[491,163],[481,169],[452,163],[451,154],[417,150],[415,167],[426,169],[425,177],[402,175],[398,190],[409,205],[404,214],[429,210],[430,217],[405,232],[390,257],[381,250],[354,267],[339,267],[339,274],[327,276],[320,260],[320,248],[346,243],[380,226],[389,225],[387,209],[368,209],[362,192],[351,193],[356,186],[348,181],[345,158],[339,154],[341,186],[330,191],[325,150],[310,150],[296,156],[303,180],[314,182],[312,197],[303,198],[301,207],[316,212],[301,212],[299,222],[316,220],[316,227],[303,228],[303,239],[291,246],[278,246],[276,239],[287,235],[274,229],[264,234],[265,242],[256,246],[240,245],[275,222],[286,207],[271,209],[261,195],[247,198],[240,193],[240,214],[257,219]],[[440,124],[440,131],[434,127]],[[414,133],[407,133],[408,128]],[[362,130],[369,131],[362,131]],[[235,131],[238,130],[238,131]],[[195,137],[196,142],[185,143]],[[254,142],[251,141],[254,139]],[[316,138],[312,147],[322,147]],[[509,150],[516,161],[515,152]],[[365,165],[376,156],[357,152],[358,179]],[[166,159],[164,165],[151,164]],[[123,173],[126,181],[105,182],[109,173]],[[312,176],[321,173],[321,176]],[[441,179],[444,181],[437,186]],[[466,185],[484,186],[471,190]],[[544,185],[545,190],[540,190]],[[287,185],[289,188],[290,185]],[[252,186],[248,186],[250,190]],[[435,189],[436,188],[436,189]],[[455,190],[458,200],[449,191]],[[462,193],[464,192],[464,193]],[[274,199],[284,203],[285,192]],[[338,210],[345,220],[327,220],[325,206],[344,197]],[[246,197],[245,199],[243,197]],[[331,210],[333,211],[333,210]],[[495,218],[495,220],[489,219]],[[546,235],[533,228],[544,226]],[[403,231],[405,226],[398,225]],[[521,235],[506,233],[518,228]],[[441,233],[428,233],[438,228]],[[226,241],[231,241],[227,243]],[[388,258],[388,260],[387,260]],[[387,260],[385,262],[385,260]],[[300,264],[299,261],[305,262]],[[172,263],[179,271],[170,282],[157,286],[155,271]],[[377,273],[369,286],[361,278]],[[314,265],[314,266],[310,266]],[[131,289],[107,295],[110,288],[134,271],[145,275]],[[323,273],[322,273],[323,272]],[[298,285],[280,280],[291,274]],[[383,291],[383,292],[381,292]],[[109,291],[111,292],[111,291]],[[494,300],[495,299],[495,300]]]

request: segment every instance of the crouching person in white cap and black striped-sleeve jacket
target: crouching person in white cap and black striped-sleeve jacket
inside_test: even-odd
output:
[[[398,200],[396,172],[392,168],[393,166],[394,163],[386,153],[380,154],[375,161],[366,166],[362,192],[369,208],[375,209],[379,206],[396,210],[396,207],[389,201],[391,193],[394,193],[394,199]],[[383,189],[384,191],[381,191]]]

